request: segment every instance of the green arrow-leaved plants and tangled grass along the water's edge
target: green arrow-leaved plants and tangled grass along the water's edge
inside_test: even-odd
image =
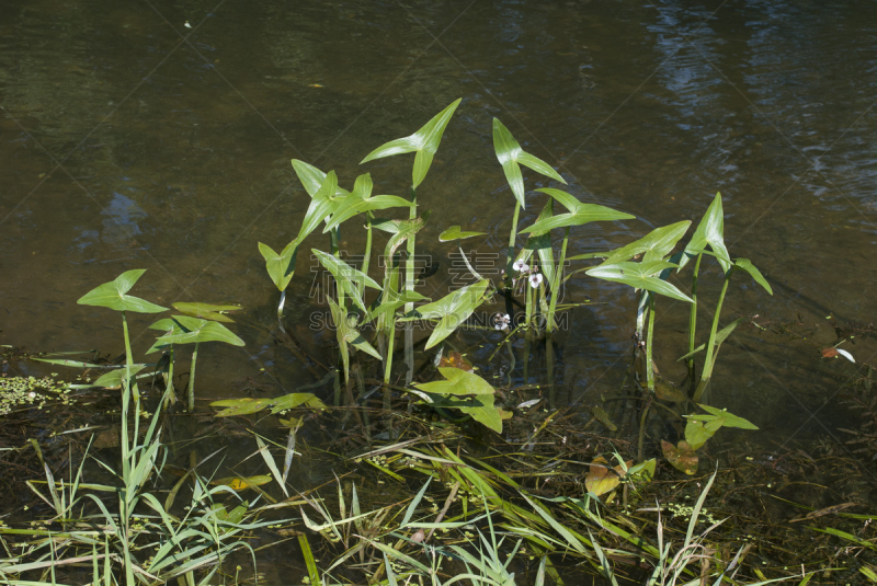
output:
[[[591,222],[630,220],[635,216],[583,203],[559,188],[539,187],[534,195],[544,198],[542,210],[531,226],[520,229],[520,211],[526,204],[521,165],[548,180],[561,184],[566,181],[545,161],[524,151],[509,129],[494,119],[494,152],[514,196],[505,272],[498,283],[480,275],[460,242],[485,234],[460,226],[447,227],[438,241],[456,246],[474,281],[440,299],[429,299],[415,290],[414,265],[421,231],[433,219],[429,210],[422,209],[425,180],[459,102],[449,104],[414,134],[386,142],[363,159],[362,163],[367,163],[414,152],[411,189],[406,197],[373,195],[375,185],[369,173],[358,175],[348,191],[340,186],[334,171],[323,172],[293,160],[296,175],[310,198],[308,209],[295,237],[280,253],[263,243],[259,243],[259,250],[281,296],[276,326],[292,341],[296,355],[304,356],[304,351],[286,332],[283,308],[286,290],[295,277],[299,248],[322,227],[321,232],[329,237],[328,250],[310,246],[303,250],[309,250],[332,277],[326,302],[335,333],[337,354],[334,364],[323,367],[323,372],[311,369],[317,382],[298,386],[293,393],[212,402],[216,410],[209,415],[212,422],[241,418],[238,436],[255,441],[257,449],[250,457],[258,453],[261,461],[257,460],[263,469],[247,473],[232,469],[217,473],[220,476],[217,479],[205,478],[198,467],[216,452],[201,461],[193,452],[187,468],[176,468],[167,461],[169,447],[163,443],[175,421],[171,405],[174,380],[179,377],[179,372],[174,375],[174,369],[179,370],[175,365],[179,346],[194,345],[186,393],[192,415],[200,345],[206,342],[243,345],[243,340],[225,325],[234,322],[228,313],[239,310],[238,306],[174,303],[176,314],[150,326],[161,335],[148,354],[160,352],[161,357],[157,364],[147,364],[136,361],[133,356],[126,312],[158,313],[166,309],[128,295],[144,271],[123,273],[79,300],[82,305],[122,313],[124,367],[44,359],[105,370],[86,386],[119,391],[119,462],[115,466],[90,456],[90,461],[112,476],[112,481],[101,484],[82,482],[84,459],[76,474],[70,467],[67,482],[56,481],[44,463],[46,487],[39,489],[36,483],[29,486],[50,507],[46,522],[54,532],[33,529],[22,533],[0,527],[0,537],[29,538],[23,553],[12,555],[8,549],[9,556],[0,560],[0,575],[4,579],[24,583],[22,576],[25,576],[30,584],[55,583],[59,567],[72,563],[69,560],[81,559],[92,562],[94,584],[112,581],[126,585],[158,584],[174,577],[186,584],[208,584],[235,552],[248,555],[254,565],[257,550],[248,541],[249,536],[276,530],[297,539],[307,577],[314,584],[363,579],[387,584],[417,579],[435,586],[455,583],[510,586],[522,579],[537,585],[549,581],[562,584],[560,566],[570,563],[569,560],[611,584],[617,584],[618,576],[650,586],[707,579],[717,585],[729,581],[743,584],[752,583],[752,575],[760,579],[754,584],[772,582],[758,568],[748,571],[745,577],[736,577],[743,565],[747,545],[736,545],[737,553],[731,555],[729,538],[716,537],[724,522],[716,520],[721,515],[720,502],[715,507],[710,505],[708,514],[704,513],[718,472],[708,480],[693,478],[699,463],[696,450],[707,445],[720,428],[756,428],[748,420],[709,404],[706,393],[721,344],[742,323],[736,320],[719,329],[730,278],[736,272],[747,273],[771,292],[750,261],[731,260],[724,243],[720,196],[716,195],[682,251],[674,252],[691,227],[687,220],[657,228],[616,250],[570,257],[567,252],[570,239],[577,235],[573,230]],[[510,209],[511,204],[510,200]],[[556,205],[562,211],[556,210]],[[405,208],[408,211],[403,218],[375,216],[378,211]],[[341,249],[341,232],[350,221],[365,230],[365,248],[358,263]],[[373,262],[373,249],[379,250],[374,242],[375,231],[386,234],[387,240],[380,264]],[[557,251],[555,242],[559,242]],[[697,285],[705,255],[717,260],[724,283],[707,340],[695,347],[696,308],[704,303],[702,296],[698,298]],[[691,260],[695,263],[690,296],[668,279]],[[567,265],[571,261],[594,264],[569,271]],[[580,273],[631,287],[637,299],[634,325],[637,344],[628,369],[634,392],[610,397],[614,410],[608,401],[606,409],[591,405],[581,413],[558,410],[555,404],[553,335],[562,312],[580,305],[566,299],[561,303],[565,284]],[[687,389],[677,388],[662,377],[654,364],[658,295],[691,308],[688,353],[680,358],[686,361]],[[504,298],[506,311],[499,312],[490,324],[479,324],[478,310],[492,305],[499,296]],[[522,296],[523,303],[519,301]],[[516,307],[523,310],[523,320]],[[414,324],[429,324],[429,335],[415,341]],[[500,348],[508,348],[512,370],[515,369],[512,345],[523,335],[524,383],[514,386],[511,372],[506,386],[489,382],[479,371],[481,365],[467,360],[465,351],[456,344],[464,328],[479,332],[482,341],[496,345],[488,363]],[[398,330],[405,332],[401,352],[396,348]],[[529,353],[534,345],[542,344],[548,383],[531,384]],[[697,377],[695,360],[699,353],[704,353],[705,360]],[[402,368],[394,368],[399,354]],[[415,357],[421,359],[419,368]],[[161,394],[151,414],[146,402],[155,399],[141,395],[138,387],[140,381],[149,379]],[[37,384],[35,381],[25,384],[23,379],[8,380],[19,399],[26,399],[22,392],[37,392],[33,387]],[[334,387],[334,401],[324,403],[317,389],[330,383]],[[369,390],[367,386],[373,388]],[[623,387],[623,393],[628,393],[626,382]],[[358,391],[356,398],[354,388]],[[547,391],[546,397],[542,395],[543,390]],[[383,391],[384,409],[378,410],[383,429],[374,433],[369,398],[379,391]],[[397,405],[406,403],[407,409],[395,409],[394,401]],[[589,411],[590,415],[580,417]],[[352,416],[355,423],[351,423]],[[141,420],[148,422],[146,429],[140,429]],[[264,422],[281,428],[285,445],[283,439],[272,439],[273,432],[257,430]],[[303,428],[307,429],[308,422],[319,422],[321,430],[331,430],[332,441],[341,446],[331,449],[348,456],[326,453],[337,457],[339,467],[350,469],[345,475],[355,474],[345,482],[338,480],[338,515],[329,503],[334,497],[320,497],[316,489],[291,496],[287,479],[299,461],[296,446],[301,449],[305,444]],[[654,453],[662,456],[661,460],[647,457],[646,440],[651,436],[653,451],[658,452],[657,441],[667,437],[663,435],[667,422],[676,426],[681,439],[674,443],[661,439],[661,453]],[[660,424],[661,435],[654,433],[652,423]],[[591,425],[608,435],[588,432]],[[635,440],[628,441],[628,437]],[[379,446],[380,441],[389,444]],[[42,461],[38,443],[34,447]],[[278,450],[282,459],[275,459]],[[656,480],[659,474],[674,474],[663,461],[684,473],[676,478],[686,479],[679,482],[691,486],[690,492],[696,495],[694,506],[675,502],[675,495],[659,485]],[[166,472],[180,475],[180,480],[172,485],[160,482]],[[412,496],[409,485],[413,485],[414,479],[419,484],[423,478],[423,484]],[[704,487],[699,481],[705,482]],[[725,489],[731,483],[725,482]],[[378,485],[384,486],[375,489]],[[157,496],[158,486],[168,491],[163,503]],[[181,507],[176,504],[178,496],[190,486],[191,497]],[[243,501],[243,495],[249,494],[258,497]],[[367,502],[374,502],[375,507],[366,507],[361,494],[367,494]],[[377,503],[379,498],[390,502]],[[440,506],[442,498],[444,504]],[[259,499],[267,504],[257,506]],[[654,501],[657,508],[651,506]],[[110,503],[117,505],[117,510],[111,513]],[[287,507],[296,508],[306,531],[289,529],[288,519],[276,518],[277,509]],[[657,519],[652,513],[658,513]],[[665,522],[664,513],[670,513],[674,521]],[[709,528],[697,533],[698,524],[707,520]],[[679,532],[671,525],[681,521],[687,524],[687,531],[681,547],[673,549],[664,537]],[[93,529],[94,526],[99,529]],[[864,544],[866,540],[848,539],[852,533],[838,531],[841,529],[831,536],[868,547]],[[312,540],[317,536],[320,541]],[[320,563],[323,554],[329,554],[331,562]],[[30,581],[32,572],[42,573],[39,582]],[[257,575],[254,568],[251,575]],[[231,579],[227,572],[225,577]],[[237,583],[237,574],[234,579]],[[809,578],[802,576],[802,579],[806,583]]]

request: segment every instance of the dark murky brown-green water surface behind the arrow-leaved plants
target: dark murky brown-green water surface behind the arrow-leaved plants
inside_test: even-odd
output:
[[[277,291],[257,250],[281,250],[309,203],[289,160],[334,169],[349,188],[371,172],[376,193],[406,195],[411,156],[358,161],[457,97],[418,195],[433,211],[419,243],[440,263],[425,295],[460,278],[437,240],[449,226],[487,232],[466,250],[504,263],[513,197],[494,116],[577,197],[637,217],[573,229],[570,255],[696,222],[721,192],[731,255],[755,263],[774,296],[731,283],[722,323],[758,315],[768,329],[726,344],[713,400],[762,428],[750,441],[843,440],[839,393],[877,351],[865,333],[843,346],[857,365],[819,352],[836,342],[829,315],[877,313],[877,4],[865,1],[4,1],[0,342],[119,353],[117,317],[76,300],[147,268],[134,294],[241,303],[259,325],[236,329],[243,349],[202,352],[201,398],[262,372],[271,393],[312,382],[271,335]],[[522,226],[543,205],[532,189],[554,185],[525,179]],[[342,244],[361,250],[349,232]],[[308,256],[286,320],[331,361],[333,335],[310,328],[324,308]],[[715,266],[702,283],[713,306]],[[567,292],[593,303],[558,336],[560,397],[588,404],[620,382],[635,298],[584,278]],[[658,364],[681,380],[687,309],[660,299],[657,313]],[[145,351],[151,320],[133,322]],[[776,335],[777,323],[810,335]]]

